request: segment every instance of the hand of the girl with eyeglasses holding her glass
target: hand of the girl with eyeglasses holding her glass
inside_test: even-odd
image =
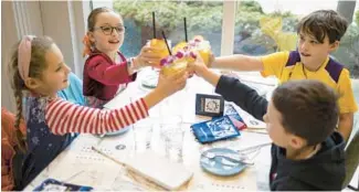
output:
[[[155,54],[157,50],[150,47],[149,45],[142,46],[139,54],[134,58],[134,65],[136,68],[140,68],[144,66],[155,66],[158,67],[160,63],[160,56]]]

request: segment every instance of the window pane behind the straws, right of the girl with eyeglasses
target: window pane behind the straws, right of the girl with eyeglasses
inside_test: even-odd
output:
[[[202,35],[211,42],[215,55],[221,53],[222,10],[220,1],[120,1],[113,8],[124,18],[126,25],[122,52],[134,56],[154,38],[152,11],[156,13],[156,35],[165,31],[172,46],[184,41],[183,18],[187,18],[188,39]]]

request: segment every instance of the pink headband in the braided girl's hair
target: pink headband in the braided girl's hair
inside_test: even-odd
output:
[[[18,67],[20,76],[23,81],[29,77],[29,68],[31,61],[31,41],[34,38],[35,36],[33,35],[24,35],[18,47]]]

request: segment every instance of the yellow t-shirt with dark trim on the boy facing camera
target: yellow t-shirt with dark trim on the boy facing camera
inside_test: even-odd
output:
[[[349,77],[349,71],[342,68],[338,81],[336,82],[326,70],[329,57],[316,72],[310,72],[306,70],[300,62],[295,63],[292,66],[286,66],[287,60],[289,57],[289,52],[277,52],[270,55],[262,56],[262,63],[264,70],[263,76],[275,75],[281,83],[291,79],[317,79],[330,87],[332,87],[337,94],[339,94],[339,110],[340,114],[356,113],[358,110],[357,103],[353,97],[351,82]]]

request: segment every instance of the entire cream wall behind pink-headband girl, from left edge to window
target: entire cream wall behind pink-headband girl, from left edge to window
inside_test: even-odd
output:
[[[63,52],[65,62],[82,77],[82,38],[89,14],[88,1],[1,1],[1,106],[14,111],[7,77],[11,47],[24,34],[49,35]]]

